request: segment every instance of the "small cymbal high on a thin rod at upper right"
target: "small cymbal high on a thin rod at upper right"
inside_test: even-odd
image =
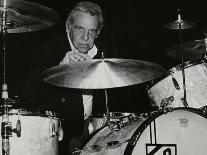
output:
[[[188,21],[183,21],[183,20],[176,20],[176,21],[164,24],[165,28],[167,28],[167,29],[175,29],[175,30],[189,29],[189,28],[192,28],[194,26],[196,26],[195,23],[188,22]]]

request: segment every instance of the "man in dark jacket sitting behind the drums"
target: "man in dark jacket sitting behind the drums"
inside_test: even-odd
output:
[[[41,73],[47,68],[77,61],[100,58],[95,45],[103,27],[103,15],[99,5],[79,2],[70,11],[66,21],[66,36],[56,36],[40,46],[35,53],[32,72],[26,80],[26,98],[35,109],[58,112],[63,117],[63,148],[70,152],[80,148],[86,137],[83,134],[84,120],[92,112],[92,95],[89,91],[59,88],[44,83]],[[84,118],[84,119],[83,119]],[[85,127],[86,130],[87,125]],[[82,138],[82,139],[81,139]],[[61,152],[65,154],[65,150]]]

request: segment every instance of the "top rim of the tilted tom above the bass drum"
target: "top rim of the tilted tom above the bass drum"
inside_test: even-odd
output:
[[[189,67],[191,67],[191,66],[198,65],[198,64],[207,64],[207,63],[206,63],[206,61],[203,60],[203,59],[194,60],[194,61],[186,61],[186,62],[184,62],[184,68],[186,69],[186,68],[189,68]],[[151,80],[151,81],[149,82],[149,84],[146,86],[146,90],[147,90],[147,92],[149,92],[150,89],[151,89],[152,87],[154,87],[156,84],[158,84],[159,82],[161,82],[162,80],[164,80],[166,77],[168,77],[171,73],[174,73],[174,72],[176,72],[176,71],[178,71],[178,70],[181,70],[181,65],[182,65],[182,64],[179,64],[179,65],[177,65],[177,66],[174,66],[174,67],[168,69],[168,70],[166,71],[166,73],[164,73],[162,76],[160,76],[160,77],[158,77],[158,78],[156,78],[156,79]]]

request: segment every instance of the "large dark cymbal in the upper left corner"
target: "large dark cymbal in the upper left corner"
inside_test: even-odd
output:
[[[0,0],[0,19],[3,17],[4,0]],[[8,33],[31,32],[48,28],[58,20],[57,13],[46,6],[23,1],[6,1],[6,28]],[[2,26],[2,22],[0,23]]]

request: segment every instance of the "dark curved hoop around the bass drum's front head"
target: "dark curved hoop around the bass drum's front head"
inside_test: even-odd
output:
[[[186,110],[192,113],[196,113],[204,118],[207,119],[207,116],[199,109],[196,108],[191,108],[191,107],[177,107],[177,108],[173,108],[173,111],[176,110]],[[165,114],[164,110],[160,110],[157,111],[157,113],[153,114],[152,116],[149,116],[149,118],[147,118],[146,120],[144,120],[141,125],[135,130],[135,132],[132,134],[131,139],[135,139],[135,144],[131,145],[130,143],[127,144],[126,149],[124,150],[124,155],[129,155],[132,154],[134,147],[137,144],[137,141],[139,140],[140,136],[142,135],[142,133],[144,132],[144,130],[148,127],[148,125],[155,120],[156,118],[160,117],[161,115]],[[138,135],[138,137],[137,137]]]

